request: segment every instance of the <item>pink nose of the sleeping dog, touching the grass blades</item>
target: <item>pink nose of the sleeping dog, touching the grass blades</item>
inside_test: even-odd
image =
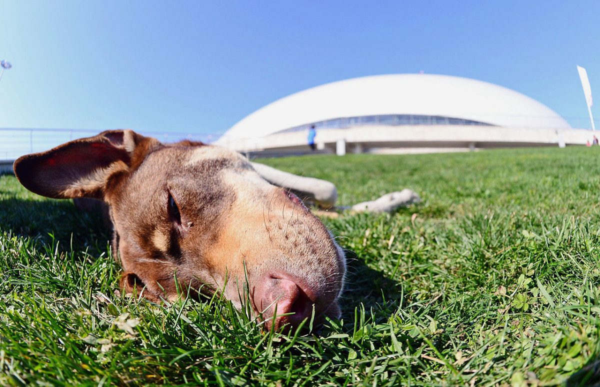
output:
[[[275,329],[286,324],[298,326],[313,314],[316,290],[299,286],[287,275],[268,275],[254,289],[254,304],[262,312],[266,329],[273,325]]]

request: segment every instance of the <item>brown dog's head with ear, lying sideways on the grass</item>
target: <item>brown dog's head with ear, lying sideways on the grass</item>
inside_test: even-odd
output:
[[[127,293],[160,302],[218,292],[267,329],[297,326],[313,308],[316,323],[340,316],[343,251],[236,152],[113,130],[20,157],[14,172],[34,193],[109,205]]]

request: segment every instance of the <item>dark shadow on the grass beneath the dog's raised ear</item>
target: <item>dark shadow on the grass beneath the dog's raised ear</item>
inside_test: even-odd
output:
[[[0,231],[44,245],[59,241],[61,251],[104,249],[110,240],[100,215],[77,210],[72,200],[0,199]]]

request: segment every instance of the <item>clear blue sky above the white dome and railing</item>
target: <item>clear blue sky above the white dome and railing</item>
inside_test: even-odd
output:
[[[589,125],[575,65],[600,105],[599,16],[598,1],[0,0],[0,128],[216,134],[302,89],[421,70]]]

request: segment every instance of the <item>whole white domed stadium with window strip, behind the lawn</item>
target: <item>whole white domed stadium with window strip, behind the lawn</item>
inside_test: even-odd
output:
[[[341,80],[281,98],[233,125],[217,141],[241,152],[431,152],[508,146],[581,144],[544,104],[511,89],[434,74]]]

